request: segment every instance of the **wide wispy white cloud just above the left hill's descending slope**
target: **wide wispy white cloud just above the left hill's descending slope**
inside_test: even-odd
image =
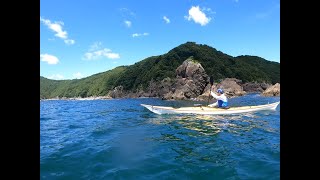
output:
[[[110,49],[102,48],[101,42],[95,42],[90,46],[89,51],[84,54],[84,59],[95,60],[101,57],[106,57],[108,59],[118,59],[120,55],[118,53],[111,52]]]

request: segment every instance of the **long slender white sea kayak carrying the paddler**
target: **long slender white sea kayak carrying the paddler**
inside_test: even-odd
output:
[[[141,104],[141,106],[149,109],[156,114],[213,114],[213,115],[223,115],[223,114],[238,114],[262,110],[276,110],[280,101],[258,105],[258,106],[242,106],[242,107],[230,107],[229,109],[214,108],[208,106],[196,106],[196,107],[166,107],[166,106],[153,106],[147,104]]]

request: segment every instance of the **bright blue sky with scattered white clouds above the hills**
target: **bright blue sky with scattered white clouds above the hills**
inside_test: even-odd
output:
[[[280,0],[40,0],[40,75],[83,78],[187,41],[280,62]]]

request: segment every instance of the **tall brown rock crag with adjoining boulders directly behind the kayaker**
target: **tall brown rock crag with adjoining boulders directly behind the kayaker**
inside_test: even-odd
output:
[[[241,82],[236,78],[226,78],[220,83],[214,83],[213,90],[222,88],[228,97],[242,96],[246,92]],[[190,57],[176,69],[175,79],[165,78],[161,82],[150,81],[147,92],[150,97],[161,97],[165,100],[204,101],[209,98],[210,87],[209,76],[204,68]]]

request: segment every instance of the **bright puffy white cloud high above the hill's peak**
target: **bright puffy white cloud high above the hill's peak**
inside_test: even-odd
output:
[[[205,8],[204,10],[211,11],[210,8]],[[204,12],[202,12],[199,6],[192,6],[189,9],[189,16],[184,16],[188,21],[193,20],[195,23],[200,24],[201,26],[207,25],[211,18],[207,17]]]

